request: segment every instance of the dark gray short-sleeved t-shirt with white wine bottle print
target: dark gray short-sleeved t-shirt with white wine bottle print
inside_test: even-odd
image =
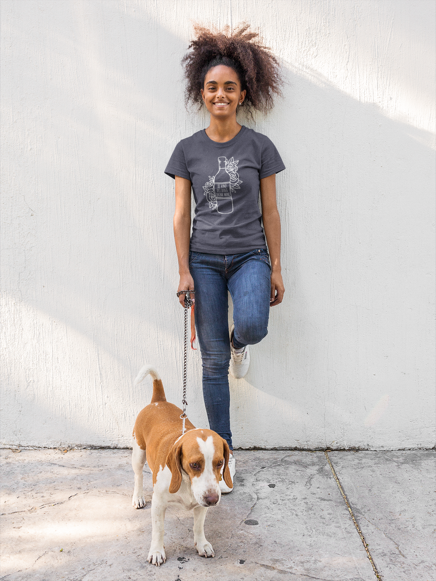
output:
[[[165,173],[191,180],[195,199],[190,250],[240,254],[266,249],[260,180],[285,169],[273,142],[242,125],[230,141],[198,131],[176,145]]]

